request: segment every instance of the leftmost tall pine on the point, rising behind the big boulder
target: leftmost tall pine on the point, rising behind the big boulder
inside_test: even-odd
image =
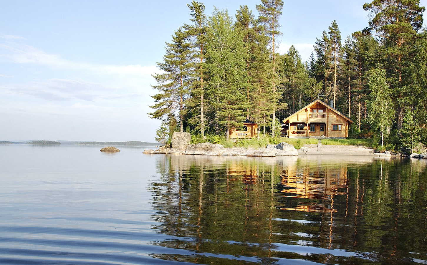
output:
[[[153,75],[158,85],[152,85],[161,93],[152,96],[156,104],[150,106],[155,109],[149,116],[153,119],[175,119],[178,111],[180,130],[183,131],[184,108],[188,97],[188,81],[192,64],[190,62],[190,44],[186,41],[187,35],[181,27],[175,30],[172,42],[166,43],[166,54],[163,63],[157,67],[163,74]]]

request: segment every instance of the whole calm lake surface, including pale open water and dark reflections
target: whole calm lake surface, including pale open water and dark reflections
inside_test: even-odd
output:
[[[427,161],[0,145],[0,264],[427,264]]]

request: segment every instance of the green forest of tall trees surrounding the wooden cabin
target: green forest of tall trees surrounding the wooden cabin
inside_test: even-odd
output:
[[[178,27],[155,74],[159,93],[149,115],[163,122],[158,141],[174,131],[228,135],[250,119],[274,137],[279,120],[315,99],[354,123],[351,137],[374,137],[389,149],[427,143],[427,32],[419,0],[373,0],[363,5],[369,25],[342,39],[334,20],[302,62],[291,46],[277,52],[282,0],[261,0],[255,18],[240,6],[204,14],[187,6],[190,24]]]

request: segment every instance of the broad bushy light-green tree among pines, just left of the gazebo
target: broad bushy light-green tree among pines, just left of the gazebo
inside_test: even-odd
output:
[[[214,9],[208,20],[206,44],[208,96],[215,108],[215,120],[226,129],[243,126],[245,102],[246,62],[242,32],[234,30],[227,11]]]

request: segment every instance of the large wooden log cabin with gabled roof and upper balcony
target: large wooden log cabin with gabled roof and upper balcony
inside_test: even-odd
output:
[[[353,121],[317,99],[283,120],[289,138],[347,138]]]

